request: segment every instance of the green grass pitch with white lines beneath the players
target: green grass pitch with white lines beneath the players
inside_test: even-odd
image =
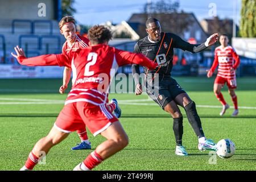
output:
[[[213,78],[178,77],[176,80],[197,105],[220,106],[212,92]],[[197,150],[196,135],[182,108],[183,144],[189,156],[176,156],[170,115],[153,101],[145,101],[148,98],[145,94],[110,94],[110,98],[121,101],[120,121],[130,143],[94,170],[256,170],[256,81],[247,77],[238,78],[237,82],[238,106],[251,107],[240,109],[238,117],[231,117],[233,109],[220,117],[220,108],[197,107],[207,138],[214,142],[229,138],[236,144],[232,158],[221,159],[209,155],[208,151]],[[61,80],[55,79],[0,80],[0,170],[19,170],[34,144],[48,134],[67,97],[58,93],[60,85]],[[232,105],[226,86],[222,93]],[[90,133],[89,139],[93,149],[104,141],[103,137],[93,137]],[[77,143],[78,135],[70,134],[52,148],[45,164],[34,169],[72,170],[93,151],[71,151]]]

